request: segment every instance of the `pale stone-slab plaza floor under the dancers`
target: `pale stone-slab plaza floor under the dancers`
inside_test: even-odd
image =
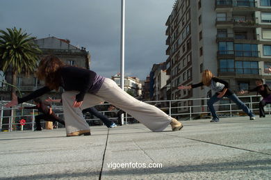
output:
[[[183,130],[142,124],[0,133],[3,179],[271,179],[271,117],[184,121]]]

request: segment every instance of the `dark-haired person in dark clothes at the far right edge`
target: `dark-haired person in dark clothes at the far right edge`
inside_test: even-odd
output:
[[[260,117],[265,117],[265,111],[263,108],[266,104],[271,104],[271,90],[268,87],[268,85],[263,84],[263,79],[257,79],[255,83],[256,83],[256,88],[252,90],[241,90],[239,93],[241,95],[245,93],[249,93],[249,92],[257,92],[257,95],[260,94],[263,97],[263,99],[258,104],[259,113],[260,113]]]

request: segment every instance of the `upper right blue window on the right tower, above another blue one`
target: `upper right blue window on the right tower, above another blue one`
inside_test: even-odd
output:
[[[258,57],[257,44],[234,44],[234,51],[238,57]]]

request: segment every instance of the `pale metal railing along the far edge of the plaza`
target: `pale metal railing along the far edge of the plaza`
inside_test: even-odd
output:
[[[244,99],[245,104],[252,109],[252,111],[258,111],[258,102],[260,96],[240,96],[241,100]],[[161,108],[162,111],[167,113],[168,115],[172,117],[179,118],[179,120],[192,120],[193,117],[200,117],[200,118],[211,118],[210,112],[208,112],[207,105],[191,105],[191,106],[179,106],[179,104],[183,104],[183,102],[192,102],[192,101],[206,101],[209,98],[197,98],[197,99],[176,99],[176,100],[164,100],[164,101],[145,101],[148,104],[157,105],[159,104],[158,108]],[[227,98],[224,98],[223,100],[227,100]],[[220,101],[223,102],[223,101]],[[105,106],[109,104],[101,104],[98,106]],[[217,109],[217,114],[224,117],[233,117],[237,115],[243,115],[242,110],[240,110],[236,104],[233,103],[227,103],[227,104],[215,104],[215,108]],[[62,106],[53,106],[54,111],[62,111]],[[4,115],[6,112],[11,111],[11,115]],[[15,115],[15,111],[17,111],[17,115]],[[256,111],[256,112],[257,112]],[[268,111],[268,114],[270,115],[270,104],[268,106],[265,106],[265,111]],[[18,107],[14,108],[4,108],[3,104],[0,108],[0,131],[20,131],[20,130],[31,130],[34,131],[35,126],[35,110],[31,110],[31,113],[29,111],[25,111],[26,113],[22,113],[18,110]],[[27,113],[28,112],[28,113]],[[115,116],[109,116],[108,113],[114,113],[117,114],[115,111],[100,111],[104,115],[108,116],[111,120],[116,120],[117,117]],[[56,113],[56,115],[63,115],[63,112]],[[24,127],[22,127],[19,123],[19,120],[22,118],[26,119],[26,123]],[[97,121],[99,119],[97,118],[87,118],[87,122],[91,121]],[[135,122],[136,120],[133,120],[133,117],[127,115],[127,113],[124,114],[124,124],[129,124],[129,121]],[[136,121],[137,122],[137,121]],[[44,123],[44,122],[43,122]]]

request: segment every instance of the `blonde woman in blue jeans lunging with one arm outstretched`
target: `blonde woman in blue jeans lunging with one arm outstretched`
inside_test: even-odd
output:
[[[213,97],[211,97],[207,101],[208,108],[210,109],[213,116],[213,119],[211,120],[211,122],[220,121],[220,119],[217,116],[217,113],[215,112],[215,108],[213,107],[213,104],[215,104],[215,102],[217,101],[220,101],[223,97],[227,97],[231,99],[231,101],[233,101],[235,104],[237,104],[239,108],[241,108],[245,113],[247,113],[247,115],[249,115],[249,120],[255,120],[255,117],[252,111],[249,108],[247,108],[247,106],[243,103],[243,101],[238,99],[236,94],[234,94],[229,89],[229,83],[227,83],[227,81],[223,81],[222,79],[218,79],[208,69],[202,72],[202,82],[188,85],[188,86],[180,85],[178,88],[179,90],[184,90],[184,89],[197,88],[202,85],[206,85],[215,91],[215,95],[213,95]]]

